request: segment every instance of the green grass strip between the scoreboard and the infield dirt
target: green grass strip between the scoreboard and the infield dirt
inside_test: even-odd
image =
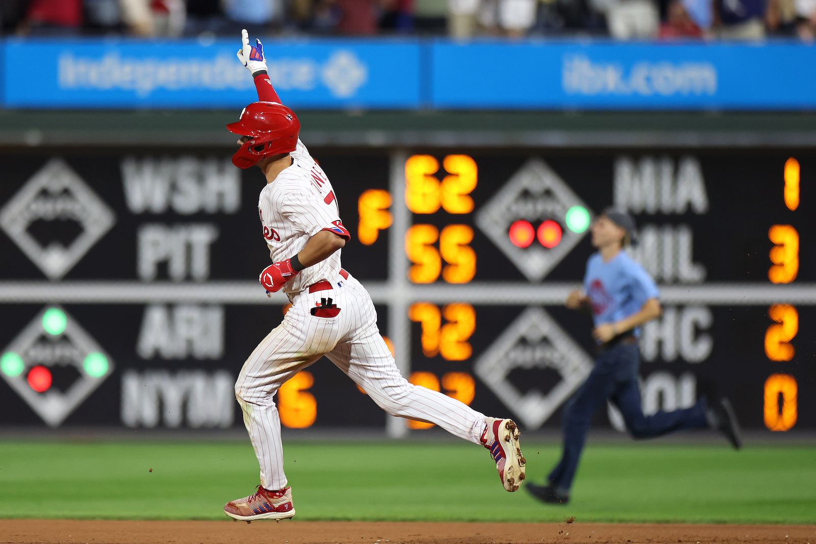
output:
[[[522,444],[528,479],[558,449]],[[467,443],[287,443],[299,520],[816,521],[816,448],[590,444],[567,506],[507,493]],[[148,469],[153,468],[153,472]],[[226,519],[258,466],[248,443],[0,443],[0,517]]]

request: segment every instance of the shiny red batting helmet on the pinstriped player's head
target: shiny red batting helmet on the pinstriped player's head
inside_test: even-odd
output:
[[[264,157],[291,153],[298,144],[300,122],[295,112],[277,102],[253,102],[241,112],[238,122],[227,130],[251,136],[233,155],[233,164],[249,168]]]

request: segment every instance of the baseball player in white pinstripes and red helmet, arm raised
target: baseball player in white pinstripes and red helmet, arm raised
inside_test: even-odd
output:
[[[260,485],[228,502],[235,520],[281,520],[295,515],[283,471],[281,422],[273,401],[282,383],[328,357],[388,414],[432,422],[482,444],[504,489],[524,480],[519,431],[510,419],[488,418],[450,396],[408,383],[377,329],[377,315],[359,281],[340,268],[350,239],[339,217],[334,188],[299,140],[295,113],[281,104],[267,75],[263,46],[251,46],[246,30],[238,60],[250,70],[259,102],[244,108],[227,129],[241,135],[233,163],[259,166],[266,177],[258,212],[273,264],[259,281],[267,293],[283,290],[291,307],[244,363],[235,384],[246,430],[260,463]]]

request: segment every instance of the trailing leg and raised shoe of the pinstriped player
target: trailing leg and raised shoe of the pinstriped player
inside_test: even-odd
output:
[[[519,431],[509,419],[488,418],[468,405],[415,386],[404,378],[377,329],[374,304],[349,276],[350,309],[357,320],[353,332],[326,356],[352,378],[388,414],[431,422],[459,438],[484,445],[496,462],[504,489],[515,491],[525,475]]]

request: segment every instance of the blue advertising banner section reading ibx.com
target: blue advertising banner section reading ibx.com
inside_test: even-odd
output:
[[[814,108],[816,47],[437,42],[432,82],[434,108]]]

